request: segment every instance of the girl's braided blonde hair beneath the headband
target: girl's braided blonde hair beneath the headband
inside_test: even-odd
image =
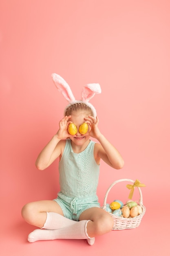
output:
[[[79,111],[79,110],[86,111],[89,113],[89,115],[94,116],[92,109],[82,102],[74,103],[68,106],[68,108],[66,108],[65,110],[65,115],[69,116],[72,114],[73,111]]]

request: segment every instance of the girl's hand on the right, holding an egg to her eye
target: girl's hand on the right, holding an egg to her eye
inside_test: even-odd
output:
[[[97,139],[100,135],[101,132],[98,128],[98,124],[99,124],[99,119],[98,117],[92,117],[92,116],[88,116],[87,118],[84,118],[86,120],[86,123],[89,126],[89,136]]]

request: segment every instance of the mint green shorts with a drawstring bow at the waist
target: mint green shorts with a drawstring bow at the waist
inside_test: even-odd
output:
[[[85,210],[92,207],[100,208],[97,195],[93,195],[88,198],[69,198],[62,192],[59,192],[58,197],[53,201],[57,202],[60,205],[64,217],[76,221],[79,221],[79,216]]]

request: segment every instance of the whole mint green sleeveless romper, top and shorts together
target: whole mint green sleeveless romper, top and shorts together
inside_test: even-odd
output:
[[[54,199],[62,208],[64,217],[79,220],[81,213],[91,207],[100,207],[96,194],[99,165],[94,158],[95,142],[89,142],[81,153],[74,153],[71,140],[59,162],[60,192]]]

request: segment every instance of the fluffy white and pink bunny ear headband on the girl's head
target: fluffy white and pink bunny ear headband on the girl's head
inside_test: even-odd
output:
[[[75,103],[85,103],[89,108],[91,108],[91,110],[93,111],[93,116],[96,117],[96,110],[94,108],[94,106],[89,103],[88,101],[93,98],[93,96],[96,93],[101,93],[101,88],[99,83],[88,83],[87,85],[84,85],[83,90],[82,90],[82,99],[80,101],[75,100],[75,97],[71,91],[70,86],[68,85],[68,83],[66,83],[66,81],[59,76],[58,74],[53,73],[52,75],[52,79],[53,82],[55,84],[55,86],[57,87],[57,89],[59,90],[59,92],[61,92],[64,96],[64,98],[68,101],[68,105],[66,106],[65,110],[64,110],[64,115],[66,112],[66,109],[75,104]]]

